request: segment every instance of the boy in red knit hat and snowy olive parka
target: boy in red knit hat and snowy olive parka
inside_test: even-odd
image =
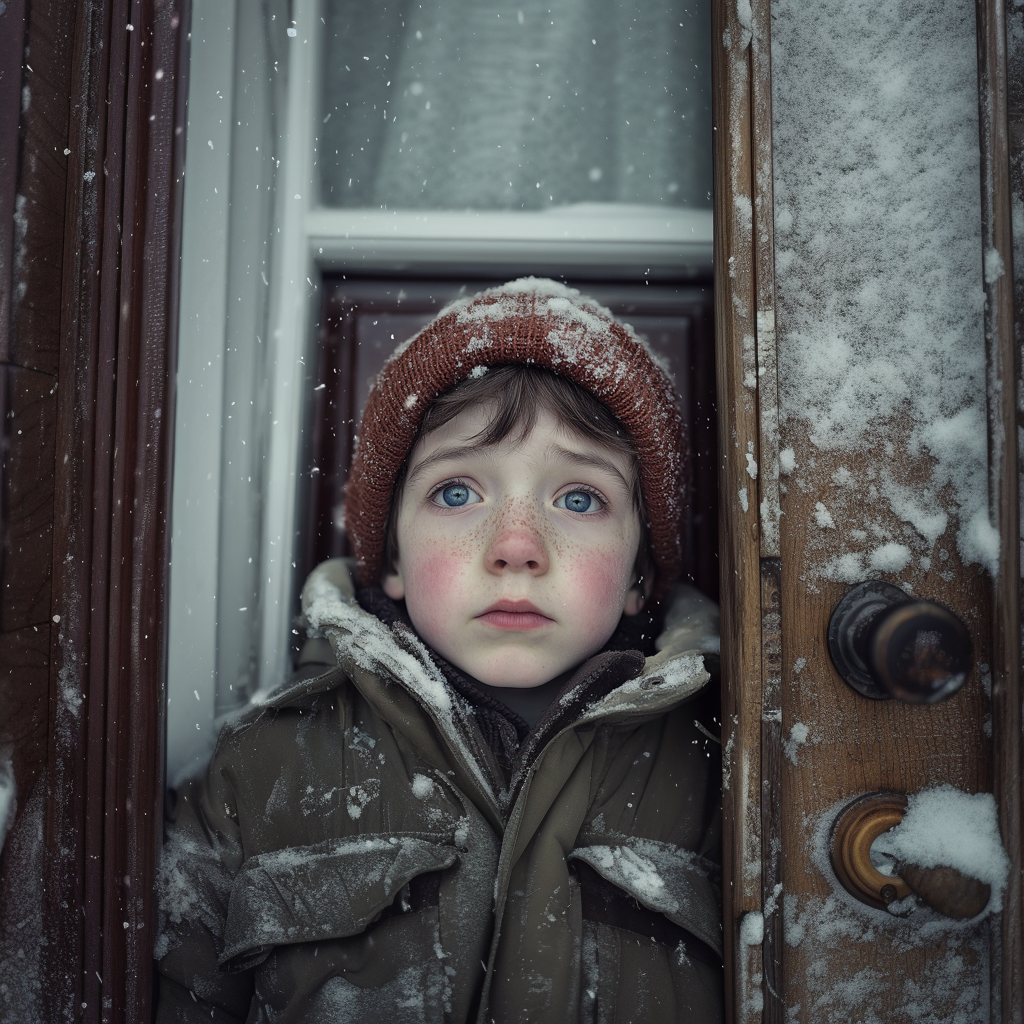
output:
[[[644,658],[682,452],[665,373],[553,282],[395,352],[346,493],[357,579],[311,574],[298,674],[178,801],[161,1021],[722,1019],[692,592]]]

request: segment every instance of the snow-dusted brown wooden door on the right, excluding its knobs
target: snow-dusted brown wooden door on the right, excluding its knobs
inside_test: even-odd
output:
[[[737,1022],[1021,1019],[1006,30],[998,3],[941,6],[716,7]],[[841,678],[829,616],[865,580],[967,625],[955,695],[872,700]],[[995,795],[1002,913],[953,924],[852,899],[828,857],[839,812],[941,785]]]

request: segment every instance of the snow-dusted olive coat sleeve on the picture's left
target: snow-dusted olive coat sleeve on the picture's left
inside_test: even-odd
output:
[[[224,922],[242,860],[238,815],[218,765],[182,786],[164,843],[158,896],[158,1024],[242,1022],[253,997],[252,971],[222,970]]]

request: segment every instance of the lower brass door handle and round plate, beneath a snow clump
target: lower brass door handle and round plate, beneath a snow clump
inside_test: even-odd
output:
[[[886,874],[871,861],[871,845],[898,825],[905,813],[902,793],[868,793],[847,804],[829,836],[828,856],[836,878],[851,896],[879,910],[912,893],[947,918],[976,918],[991,897],[991,888],[984,882],[953,867],[919,864],[894,864],[894,873]]]

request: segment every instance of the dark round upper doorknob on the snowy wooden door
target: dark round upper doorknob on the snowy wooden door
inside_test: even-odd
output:
[[[968,680],[971,635],[945,605],[920,601],[889,583],[849,590],[828,623],[836,671],[872,700],[936,703]]]

